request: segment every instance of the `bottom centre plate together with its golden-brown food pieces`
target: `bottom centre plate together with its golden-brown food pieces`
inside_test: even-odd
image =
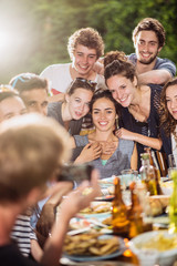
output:
[[[126,249],[124,239],[117,236],[81,234],[66,236],[64,257],[75,262],[103,260],[122,255]]]

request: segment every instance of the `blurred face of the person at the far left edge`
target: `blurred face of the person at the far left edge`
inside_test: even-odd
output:
[[[27,109],[19,96],[7,98],[0,102],[0,122],[24,113]]]

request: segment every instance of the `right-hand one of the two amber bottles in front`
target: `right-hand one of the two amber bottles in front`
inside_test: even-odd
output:
[[[129,238],[133,238],[144,232],[143,208],[139,204],[139,198],[136,194],[135,182],[131,183],[129,190],[132,198],[132,206],[131,209],[128,211]]]

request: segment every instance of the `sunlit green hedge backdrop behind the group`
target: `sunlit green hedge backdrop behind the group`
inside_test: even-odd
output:
[[[129,54],[132,31],[145,17],[163,23],[167,35],[160,57],[177,63],[176,0],[0,0],[0,83],[69,62],[67,38],[80,28],[97,29],[105,52]]]

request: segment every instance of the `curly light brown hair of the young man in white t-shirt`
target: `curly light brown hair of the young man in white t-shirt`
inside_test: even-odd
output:
[[[100,33],[92,28],[82,28],[75,31],[67,42],[67,51],[72,60],[77,44],[96,50],[97,59],[104,54],[104,42]]]

